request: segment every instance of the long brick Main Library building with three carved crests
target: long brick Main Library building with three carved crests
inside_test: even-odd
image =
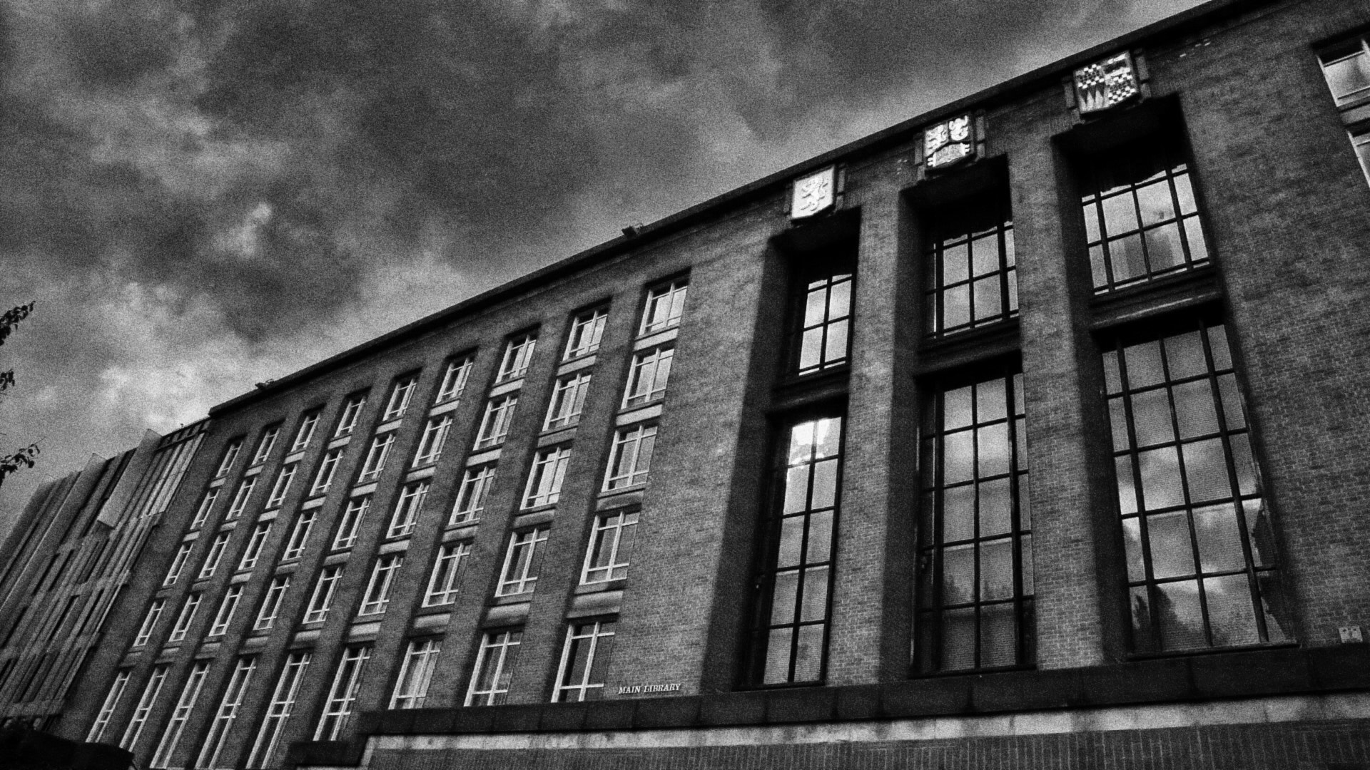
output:
[[[49,729],[1370,767],[1367,30],[1217,0],[221,404]]]

